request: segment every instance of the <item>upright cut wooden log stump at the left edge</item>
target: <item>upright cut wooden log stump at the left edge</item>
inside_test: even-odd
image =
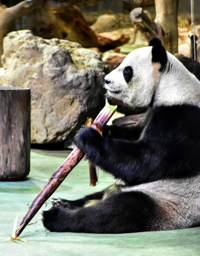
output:
[[[0,181],[30,171],[30,89],[0,87]]]

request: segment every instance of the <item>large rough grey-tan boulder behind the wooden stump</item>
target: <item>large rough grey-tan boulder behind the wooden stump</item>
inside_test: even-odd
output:
[[[43,39],[29,30],[4,38],[0,85],[31,88],[31,142],[72,137],[105,104],[104,64],[80,44]]]

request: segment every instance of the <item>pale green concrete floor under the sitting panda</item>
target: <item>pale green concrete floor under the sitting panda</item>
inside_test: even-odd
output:
[[[44,229],[40,211],[21,234],[28,243],[5,242],[6,232],[12,233],[51,174],[63,162],[67,152],[31,151],[31,171],[26,181],[0,182],[0,255],[120,255],[120,256],[200,256],[200,228],[164,232],[144,232],[118,235],[51,233]],[[100,172],[96,187],[89,186],[88,163],[82,160],[67,176],[52,197],[77,199],[112,184],[113,178]],[[50,208],[50,199],[47,208]],[[45,206],[41,210],[45,209]]]

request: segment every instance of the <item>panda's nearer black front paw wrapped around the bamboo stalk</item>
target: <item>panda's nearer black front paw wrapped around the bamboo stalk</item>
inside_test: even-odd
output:
[[[89,157],[102,145],[102,136],[93,128],[85,127],[79,130],[74,138],[75,144]]]

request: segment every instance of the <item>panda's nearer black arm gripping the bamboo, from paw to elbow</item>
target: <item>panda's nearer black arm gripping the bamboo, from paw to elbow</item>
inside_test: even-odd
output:
[[[155,156],[144,142],[103,138],[94,129],[86,127],[76,135],[75,143],[92,163],[129,184],[157,177],[153,172],[157,164],[153,159]]]

